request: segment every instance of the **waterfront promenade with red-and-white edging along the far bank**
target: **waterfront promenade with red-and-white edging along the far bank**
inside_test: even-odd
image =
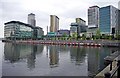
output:
[[[110,40],[16,40],[10,41],[5,40],[3,42],[13,43],[29,43],[29,44],[50,44],[50,45],[73,45],[73,46],[108,46],[108,47],[119,47],[120,41]]]

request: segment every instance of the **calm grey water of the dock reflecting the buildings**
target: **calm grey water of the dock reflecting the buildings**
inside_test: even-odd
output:
[[[94,76],[117,48],[1,43],[2,76]]]

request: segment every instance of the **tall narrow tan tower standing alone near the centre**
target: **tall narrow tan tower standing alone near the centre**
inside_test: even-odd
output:
[[[59,18],[56,15],[50,15],[50,32],[59,30]]]

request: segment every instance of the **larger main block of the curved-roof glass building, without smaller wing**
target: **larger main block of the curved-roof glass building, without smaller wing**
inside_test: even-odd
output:
[[[33,28],[29,24],[10,21],[5,23],[4,37],[6,39],[30,39],[33,37]]]

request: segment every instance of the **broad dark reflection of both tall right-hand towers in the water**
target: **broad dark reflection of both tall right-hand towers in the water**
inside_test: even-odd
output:
[[[117,48],[87,48],[88,53],[88,75],[95,76],[101,71],[104,65],[104,58],[110,55]]]

